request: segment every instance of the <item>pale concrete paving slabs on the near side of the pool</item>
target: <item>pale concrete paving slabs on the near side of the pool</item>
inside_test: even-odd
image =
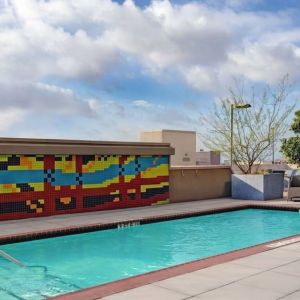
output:
[[[157,281],[102,299],[300,299],[300,243]]]

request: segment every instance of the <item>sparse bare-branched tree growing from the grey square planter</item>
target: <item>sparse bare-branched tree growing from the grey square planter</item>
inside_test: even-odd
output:
[[[259,93],[255,87],[245,93],[245,85],[229,89],[229,96],[215,104],[212,113],[205,118],[208,134],[205,145],[230,157],[230,106],[251,104],[249,109],[234,109],[233,162],[245,174],[270,155],[270,146],[281,139],[288,129],[287,117],[295,105],[287,102],[290,93],[288,76],[274,88],[266,86]]]

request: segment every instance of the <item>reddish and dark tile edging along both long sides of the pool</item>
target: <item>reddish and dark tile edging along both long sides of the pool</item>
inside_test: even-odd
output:
[[[130,225],[131,223],[135,223],[135,224],[138,223],[142,225],[142,224],[149,224],[149,223],[155,223],[160,221],[175,220],[175,219],[194,217],[194,216],[203,216],[203,215],[222,213],[228,211],[236,211],[236,210],[247,209],[247,208],[275,209],[275,210],[285,210],[285,211],[299,210],[298,208],[293,206],[274,205],[274,204],[267,204],[267,203],[264,204],[245,203],[245,204],[237,204],[237,205],[232,205],[232,206],[222,207],[222,208],[194,210],[190,212],[183,212],[183,213],[176,213],[176,214],[165,214],[165,215],[158,215],[152,217],[134,218],[131,220],[111,222],[106,224],[99,223],[99,224],[91,224],[91,225],[83,225],[83,226],[70,226],[70,227],[64,227],[59,229],[49,229],[49,230],[41,230],[41,231],[28,232],[22,234],[4,235],[0,237],[0,245],[24,242],[24,241],[30,241],[36,239],[43,239],[49,237],[58,237],[58,236],[70,235],[70,234],[78,234],[84,232],[114,229],[114,228],[118,228],[119,226]],[[201,270],[210,266],[229,262],[249,255],[269,251],[299,241],[300,241],[300,234],[292,235],[285,238],[272,240],[266,243],[250,246],[247,248],[233,250],[230,252],[210,256],[207,258],[193,260],[191,262],[163,268],[160,270],[156,270],[156,271],[152,271],[140,275],[135,275],[129,278],[124,278],[117,281],[84,288],[78,291],[50,297],[49,299],[95,300],[115,293],[123,292],[132,288],[137,288],[143,285],[151,284],[156,281]]]

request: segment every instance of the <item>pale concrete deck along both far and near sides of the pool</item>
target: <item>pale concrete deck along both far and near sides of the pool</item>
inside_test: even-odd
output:
[[[232,209],[247,205],[300,209],[299,202],[287,202],[285,200],[245,201],[231,198],[201,200],[152,207],[1,221],[0,240],[20,235],[33,236],[45,232],[64,231],[82,226],[109,225],[116,222],[156,219],[170,215]],[[140,280],[140,284],[131,285],[131,287],[127,285],[123,289],[114,289],[112,286],[110,290],[108,289],[100,294],[101,297],[102,295],[104,297],[102,299],[107,300],[154,298],[157,300],[250,299],[250,297],[257,297],[258,299],[300,299],[300,243],[298,240],[292,240],[293,244],[287,246],[281,245],[276,249],[258,251],[265,251],[262,253],[252,251],[253,249],[245,250],[244,254],[238,259],[236,258],[239,256],[235,256],[235,259],[229,257],[226,260],[224,259],[226,255],[223,255],[221,259],[217,259],[217,262],[212,264],[205,265],[202,263],[201,265],[200,263],[199,268],[196,267],[195,269],[194,265],[193,269],[186,268],[187,271],[185,272],[181,271],[176,274],[172,271],[169,272],[168,276],[156,276],[156,279],[152,279],[150,282],[146,280],[144,283]],[[295,243],[295,241],[298,243]],[[208,267],[209,265],[214,266]],[[66,294],[66,296],[62,295],[58,298],[101,298],[100,296],[82,298],[80,293],[77,296],[76,294],[69,294],[69,296]]]

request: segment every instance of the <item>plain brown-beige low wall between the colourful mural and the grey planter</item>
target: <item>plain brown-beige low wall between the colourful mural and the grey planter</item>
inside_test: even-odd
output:
[[[230,196],[230,167],[174,167],[170,169],[171,202],[184,202]]]

